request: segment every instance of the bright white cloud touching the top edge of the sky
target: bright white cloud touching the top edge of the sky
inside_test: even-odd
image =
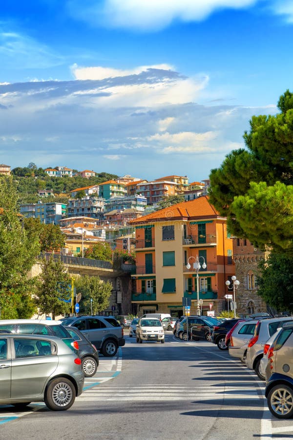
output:
[[[109,27],[159,30],[174,20],[194,22],[205,20],[214,11],[224,8],[241,9],[258,0],[68,0],[72,15],[87,22]]]

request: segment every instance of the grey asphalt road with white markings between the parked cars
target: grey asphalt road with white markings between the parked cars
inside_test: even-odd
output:
[[[264,383],[209,342],[183,342],[167,332],[165,344],[136,344],[126,332],[120,352],[122,360],[101,356],[68,411],[0,407],[0,439],[293,438],[292,421],[271,417]]]

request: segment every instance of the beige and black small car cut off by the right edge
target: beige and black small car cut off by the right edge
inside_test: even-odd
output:
[[[269,349],[265,396],[272,415],[293,416],[293,323],[286,323]],[[271,371],[270,377],[267,371]]]

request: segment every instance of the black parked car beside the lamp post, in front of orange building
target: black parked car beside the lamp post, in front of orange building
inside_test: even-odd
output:
[[[192,339],[207,339],[207,341],[210,341],[211,331],[213,327],[218,324],[220,324],[220,321],[211,316],[188,316],[188,320],[187,317],[185,317],[179,324],[177,333],[179,338],[184,341],[187,341],[191,337]]]

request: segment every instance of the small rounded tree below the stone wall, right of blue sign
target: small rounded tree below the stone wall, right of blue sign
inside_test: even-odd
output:
[[[113,286],[111,283],[104,283],[99,277],[82,276],[75,280],[76,292],[82,294],[80,301],[80,313],[90,314],[91,307],[93,314],[105,310],[109,306],[109,298]],[[91,300],[92,299],[92,305]]]

